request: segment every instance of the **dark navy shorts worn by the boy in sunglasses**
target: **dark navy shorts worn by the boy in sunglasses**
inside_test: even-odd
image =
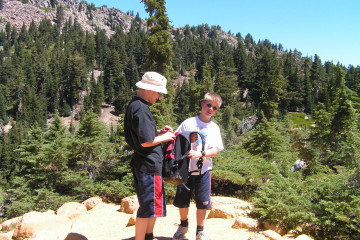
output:
[[[207,171],[202,175],[191,175],[186,186],[178,185],[174,199],[174,206],[178,208],[188,208],[190,206],[191,195],[194,191],[196,208],[211,208],[211,171]]]

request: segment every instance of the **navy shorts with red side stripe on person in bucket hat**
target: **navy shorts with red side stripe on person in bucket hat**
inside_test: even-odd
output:
[[[137,217],[166,216],[165,191],[162,176],[150,175],[133,168],[136,195],[139,201]]]

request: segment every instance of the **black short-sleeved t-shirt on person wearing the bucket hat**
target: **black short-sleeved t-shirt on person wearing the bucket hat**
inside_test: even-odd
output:
[[[161,145],[144,148],[142,143],[153,141],[157,134],[155,120],[147,102],[134,97],[126,108],[125,140],[134,150],[131,166],[142,172],[161,175],[163,152]]]

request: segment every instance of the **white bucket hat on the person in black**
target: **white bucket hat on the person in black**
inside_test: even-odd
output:
[[[146,72],[135,85],[141,89],[167,94],[166,78],[157,72]]]

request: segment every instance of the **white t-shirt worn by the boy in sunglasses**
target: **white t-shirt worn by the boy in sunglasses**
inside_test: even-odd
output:
[[[213,121],[202,122],[198,116],[188,118],[183,121],[180,126],[176,129],[176,132],[185,132],[185,131],[199,131],[205,136],[205,151],[216,147],[218,152],[224,149],[222,142],[220,128]],[[201,151],[201,139],[200,137],[195,143],[191,144],[191,149],[196,151]],[[190,159],[189,171],[198,170],[196,166],[198,159]],[[201,174],[212,169],[212,160],[210,157],[203,158],[203,166],[201,168]],[[194,175],[198,175],[198,172],[194,172]]]

